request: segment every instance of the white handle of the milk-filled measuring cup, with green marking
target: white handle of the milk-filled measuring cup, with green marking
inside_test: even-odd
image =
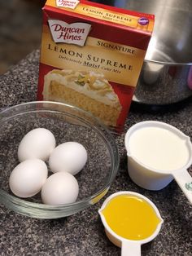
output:
[[[177,184],[181,190],[185,193],[185,196],[192,204],[192,177],[187,170],[179,170],[174,172],[174,179],[177,181]]]

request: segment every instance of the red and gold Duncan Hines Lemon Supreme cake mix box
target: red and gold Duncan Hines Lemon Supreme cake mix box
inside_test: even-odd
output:
[[[122,132],[153,26],[154,15],[48,0],[37,99],[83,108]]]

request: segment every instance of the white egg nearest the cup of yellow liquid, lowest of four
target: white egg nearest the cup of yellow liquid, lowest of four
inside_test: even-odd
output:
[[[46,179],[41,189],[41,199],[46,205],[63,205],[76,201],[79,185],[68,172],[58,172]]]

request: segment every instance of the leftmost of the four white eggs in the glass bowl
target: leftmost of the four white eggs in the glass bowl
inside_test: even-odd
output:
[[[40,192],[46,182],[48,170],[46,163],[40,159],[22,161],[12,170],[9,186],[11,191],[20,197],[30,197]]]

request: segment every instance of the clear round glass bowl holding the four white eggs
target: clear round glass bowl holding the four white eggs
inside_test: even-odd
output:
[[[77,201],[66,205],[45,205],[40,193],[20,199],[12,194],[8,180],[19,164],[17,149],[21,139],[37,127],[55,135],[57,145],[67,141],[83,144],[88,152],[85,168],[76,179]],[[119,168],[119,153],[113,135],[98,119],[83,110],[55,102],[29,102],[0,113],[0,202],[17,213],[33,218],[61,218],[94,205],[108,191]]]

